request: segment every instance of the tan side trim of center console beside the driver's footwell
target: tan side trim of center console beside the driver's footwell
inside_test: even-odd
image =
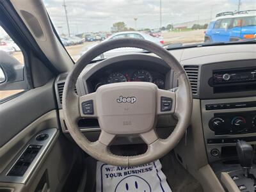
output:
[[[202,185],[204,191],[225,191],[207,161],[202,127],[201,105],[199,99],[193,99],[191,127],[187,136],[175,147],[176,156],[182,159],[182,166],[188,170]],[[178,158],[179,159],[179,158]]]

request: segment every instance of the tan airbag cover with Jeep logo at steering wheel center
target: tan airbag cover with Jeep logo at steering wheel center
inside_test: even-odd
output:
[[[96,92],[100,128],[111,134],[138,134],[154,128],[157,86],[146,82],[113,83]]]

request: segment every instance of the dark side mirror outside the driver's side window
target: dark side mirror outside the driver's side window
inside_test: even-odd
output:
[[[0,51],[0,90],[25,90],[24,65],[10,54]]]

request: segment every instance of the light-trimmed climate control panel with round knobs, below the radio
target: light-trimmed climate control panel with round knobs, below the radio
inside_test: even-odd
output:
[[[256,144],[256,97],[202,100],[201,111],[210,163],[236,156],[237,140]]]

